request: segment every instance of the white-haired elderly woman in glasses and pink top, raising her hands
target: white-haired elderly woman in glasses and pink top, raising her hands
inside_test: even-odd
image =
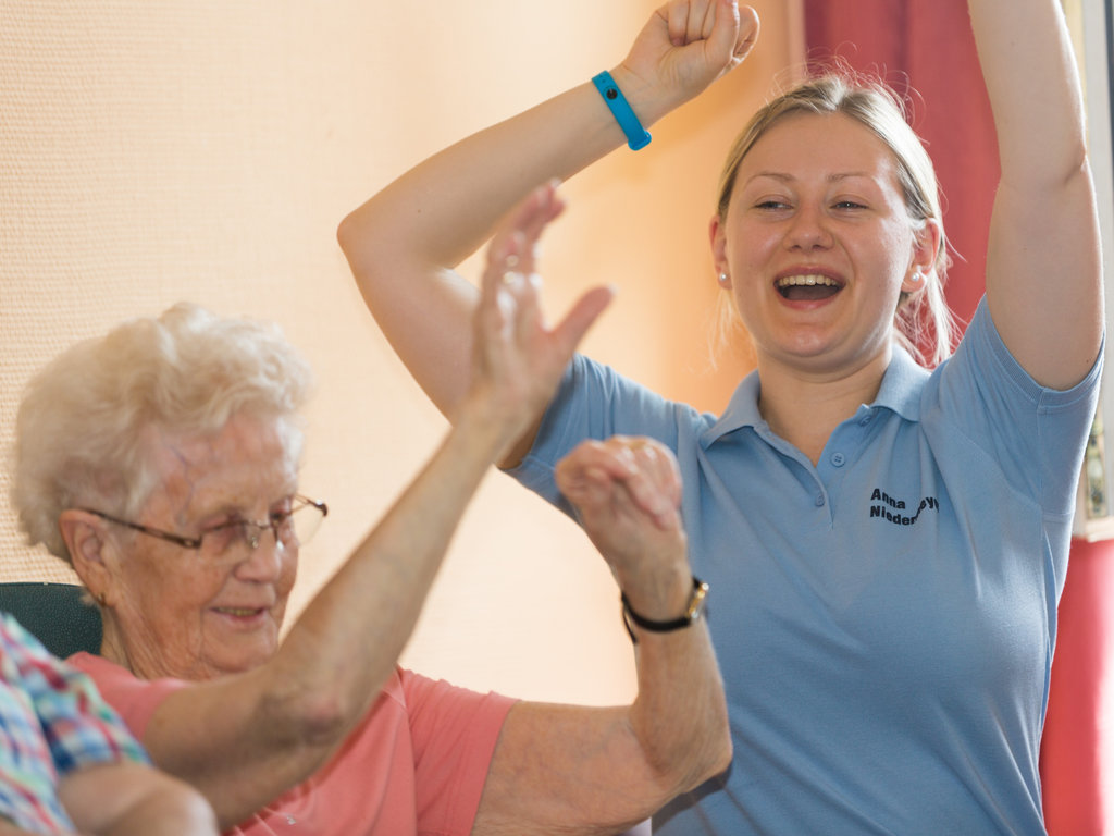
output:
[[[26,393],[21,524],[104,618],[101,657],[74,661],[223,828],[616,833],[730,759],[706,586],[675,463],[653,443],[592,443],[558,476],[624,593],[634,704],[516,703],[397,668],[480,478],[607,302],[537,339],[535,283],[501,266],[516,235],[492,244],[452,430],[282,642],[299,545],[325,506],[297,484],[309,370],[273,328],[178,305],[71,348]]]

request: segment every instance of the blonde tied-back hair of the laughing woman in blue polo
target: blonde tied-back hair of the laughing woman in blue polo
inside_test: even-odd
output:
[[[726,218],[735,176],[751,148],[770,128],[795,114],[843,114],[873,133],[897,161],[898,179],[913,229],[925,229],[929,220],[939,226],[940,241],[934,269],[925,276],[925,288],[915,294],[902,292],[893,317],[898,341],[921,364],[938,364],[951,354],[958,337],[944,297],[951,260],[944,234],[940,189],[932,161],[909,126],[906,101],[889,86],[839,67],[797,85],[763,106],[735,139],[720,175],[716,202],[720,218]],[[926,343],[930,348],[921,350]]]

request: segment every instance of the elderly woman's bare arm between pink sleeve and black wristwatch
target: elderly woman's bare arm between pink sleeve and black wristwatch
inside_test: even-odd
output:
[[[622,833],[727,767],[726,707],[705,626],[639,645],[633,706],[511,709],[473,836]]]

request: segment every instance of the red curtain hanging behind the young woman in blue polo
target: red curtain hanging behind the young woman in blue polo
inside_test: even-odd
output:
[[[944,225],[955,264],[948,303],[964,322],[985,288],[986,236],[998,156],[967,0],[803,0],[809,58],[840,58],[912,93],[913,127],[925,139],[944,193]],[[1114,616],[1114,544],[1073,543],[1059,607],[1048,717],[1042,743],[1051,836],[1087,836],[1114,825],[1102,767],[1114,769],[1114,740],[1102,723]],[[1104,739],[1105,731],[1105,739]],[[1114,807],[1114,799],[1105,803]]]

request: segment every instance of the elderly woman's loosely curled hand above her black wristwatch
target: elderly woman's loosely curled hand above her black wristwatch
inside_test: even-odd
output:
[[[626,436],[582,441],[555,476],[632,599],[653,600],[678,573],[687,580],[681,475],[667,447]]]

